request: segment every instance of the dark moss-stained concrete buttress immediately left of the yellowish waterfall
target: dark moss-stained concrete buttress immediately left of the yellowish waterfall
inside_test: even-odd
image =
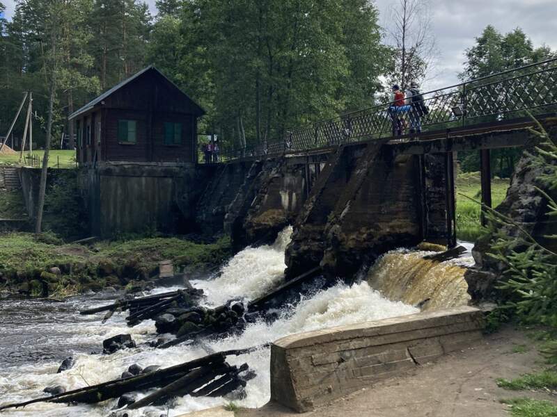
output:
[[[325,272],[351,277],[380,254],[421,242],[419,178],[416,156],[368,144],[327,223]]]

